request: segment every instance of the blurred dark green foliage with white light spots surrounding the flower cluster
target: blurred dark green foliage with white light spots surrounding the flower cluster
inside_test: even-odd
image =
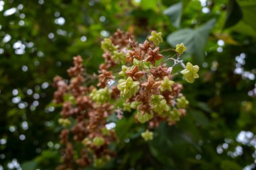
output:
[[[151,142],[121,120],[117,157],[102,169],[255,169],[255,11],[255,0],[0,0],[0,169],[59,165],[53,77],[67,78],[77,54],[97,73],[100,40],[117,28],[139,42],[162,32],[161,49],[183,42],[200,78],[184,84],[187,116]]]

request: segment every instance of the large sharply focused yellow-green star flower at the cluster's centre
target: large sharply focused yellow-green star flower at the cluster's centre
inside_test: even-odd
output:
[[[126,80],[120,79],[117,89],[121,91],[121,95],[129,98],[139,91],[139,81],[133,81],[131,77]]]

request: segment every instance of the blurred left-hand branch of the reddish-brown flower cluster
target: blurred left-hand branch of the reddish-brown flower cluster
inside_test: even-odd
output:
[[[75,66],[68,70],[69,84],[61,77],[55,78],[55,103],[62,104],[59,124],[65,127],[60,135],[65,146],[63,164],[58,169],[87,167],[92,162],[97,167],[115,155],[108,148],[117,140],[115,132],[105,126],[106,118],[113,113],[113,105],[108,103],[111,92],[84,85],[84,69],[79,69],[82,61],[81,56],[74,57]],[[79,153],[74,149],[77,147],[82,148]]]

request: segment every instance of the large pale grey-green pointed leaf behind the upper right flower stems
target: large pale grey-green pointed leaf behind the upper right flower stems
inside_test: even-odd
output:
[[[207,42],[210,30],[214,26],[216,19],[211,19],[209,22],[196,29],[185,28],[174,32],[167,37],[167,42],[171,46],[183,43],[187,46],[187,52],[193,54],[193,60],[197,63],[203,61],[203,48]]]

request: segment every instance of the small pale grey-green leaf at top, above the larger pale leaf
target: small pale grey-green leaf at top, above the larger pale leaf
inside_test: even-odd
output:
[[[170,17],[170,22],[172,26],[179,28],[181,24],[181,14],[182,14],[183,3],[175,3],[171,5],[166,10],[164,10],[164,15]]]

